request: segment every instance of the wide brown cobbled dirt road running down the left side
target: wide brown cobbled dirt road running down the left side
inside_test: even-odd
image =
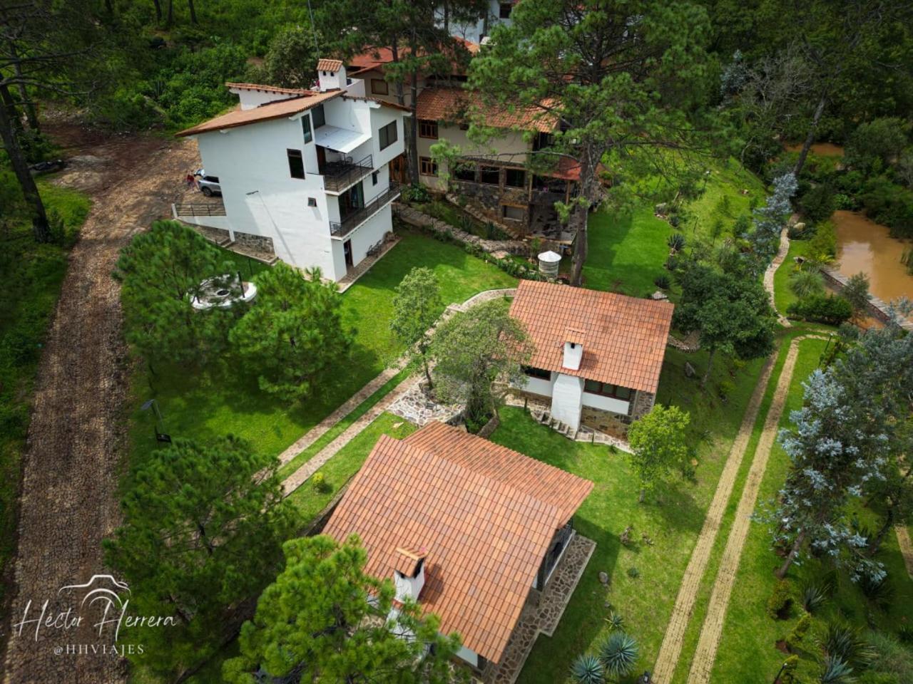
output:
[[[37,624],[27,623],[21,634],[13,625],[39,617],[46,601],[46,618],[68,607],[75,614],[86,590],[58,593],[60,587],[106,572],[100,544],[119,519],[128,380],[119,290],[110,274],[121,246],[167,215],[170,202],[184,192],[181,180],[197,154],[192,142],[112,137],[69,124],[47,129],[68,157],[77,157],[57,182],[89,192],[95,203],[70,254],[38,370],[13,598],[2,626],[4,682],[106,684],[124,681],[126,671],[110,653],[79,653],[80,645],[113,643],[110,632],[98,636],[94,620],[72,628],[58,621],[57,627],[38,628],[37,635]]]

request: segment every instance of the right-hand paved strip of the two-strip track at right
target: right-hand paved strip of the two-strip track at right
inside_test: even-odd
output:
[[[767,418],[764,420],[761,439],[758,440],[758,447],[754,452],[754,460],[751,461],[751,470],[748,473],[745,486],[742,488],[739,508],[736,510],[732,528],[729,530],[726,549],[723,551],[722,560],[719,562],[717,578],[710,594],[707,617],[704,618],[704,626],[701,627],[700,638],[698,639],[698,648],[695,651],[694,659],[691,661],[691,671],[687,679],[688,684],[707,684],[710,681],[710,672],[713,669],[713,663],[717,659],[719,639],[723,634],[723,622],[726,619],[729,596],[732,594],[732,587],[735,586],[742,549],[745,546],[745,540],[748,538],[751,526],[751,514],[754,513],[754,507],[758,501],[761,481],[764,479],[764,471],[767,469],[773,441],[777,436],[777,428],[780,425],[783,407],[786,404],[786,396],[789,394],[792,373],[795,370],[796,359],[799,358],[799,344],[806,339],[827,339],[827,337],[803,335],[802,337],[793,338],[790,343],[790,348],[780,373],[780,380],[777,382],[777,389],[773,394],[771,408],[768,410]]]

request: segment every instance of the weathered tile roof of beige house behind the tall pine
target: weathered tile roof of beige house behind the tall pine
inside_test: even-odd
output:
[[[496,129],[539,130],[549,133],[557,120],[539,108],[509,109],[482,103],[477,95],[462,88],[425,88],[418,95],[419,119],[462,122],[480,116],[486,126]],[[579,177],[580,171],[577,172]]]

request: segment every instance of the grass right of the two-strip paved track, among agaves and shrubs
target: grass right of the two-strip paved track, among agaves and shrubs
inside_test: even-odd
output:
[[[790,424],[789,412],[802,405],[801,383],[816,368],[825,344],[823,341],[814,340],[803,342],[792,377],[787,405],[780,421],[782,428]],[[785,452],[775,445],[761,484],[760,502],[770,500],[776,494],[782,485],[788,465],[789,459]],[[872,513],[862,510],[859,511],[859,515],[864,523],[875,523]],[[894,589],[894,599],[887,612],[868,605],[858,587],[842,574],[836,595],[827,606],[824,606],[821,614],[814,617],[813,632],[820,630],[827,620],[838,617],[850,621],[857,627],[865,628],[866,624],[871,624],[888,631],[893,631],[901,624],[908,624],[913,620],[913,581],[910,580],[903,558],[897,549],[896,535],[887,536],[879,559],[887,566],[889,581]],[[801,614],[801,610],[796,607],[793,608],[789,619],[780,621],[767,617],[764,612],[776,581],[773,570],[781,562],[782,559],[771,551],[770,534],[766,527],[761,523],[753,523],[729,600],[729,612],[723,627],[712,681],[755,681],[759,678],[772,681],[780,668],[785,656],[774,644],[788,634]],[[793,565],[787,576],[795,586],[800,586],[803,581],[823,574],[822,563],[810,558],[801,565]],[[813,647],[813,637],[806,637],[805,648],[807,651],[800,654],[800,672],[812,677],[819,671],[819,654],[817,648]]]

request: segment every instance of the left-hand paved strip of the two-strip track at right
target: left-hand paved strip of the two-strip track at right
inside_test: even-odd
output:
[[[668,684],[668,682],[672,681],[672,675],[675,673],[688,620],[698,598],[700,580],[707,569],[710,553],[713,550],[713,544],[716,542],[719,527],[722,523],[723,513],[726,512],[729,495],[732,493],[736,476],[739,474],[742,458],[746,449],[748,449],[751,431],[754,430],[755,420],[757,420],[758,413],[761,410],[761,400],[764,399],[764,393],[767,391],[767,384],[770,382],[776,358],[776,354],[771,355],[771,358],[768,358],[764,368],[761,370],[761,378],[758,379],[758,384],[751,395],[739,433],[729,449],[729,457],[726,459],[726,465],[723,466],[723,472],[719,475],[717,491],[713,494],[713,500],[707,510],[707,517],[704,518],[704,525],[701,527],[700,534],[698,534],[698,541],[694,545],[694,551],[691,552],[691,559],[688,561],[685,575],[682,577],[682,584],[678,588],[678,596],[676,596],[676,604],[672,608],[672,615],[669,617],[669,624],[666,627],[666,636],[663,637],[663,644],[659,648],[659,655],[656,657],[653,676],[657,684]]]

